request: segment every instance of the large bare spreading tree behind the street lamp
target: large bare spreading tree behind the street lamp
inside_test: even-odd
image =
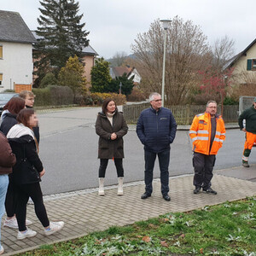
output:
[[[160,20],[151,23],[148,32],[139,33],[131,49],[141,67],[142,86],[161,91],[164,30]],[[197,83],[197,73],[209,66],[211,52],[207,37],[191,20],[176,16],[167,30],[166,104],[184,104]]]

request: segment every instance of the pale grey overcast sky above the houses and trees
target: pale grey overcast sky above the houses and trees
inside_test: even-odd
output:
[[[116,52],[131,54],[138,33],[147,32],[156,19],[178,15],[192,20],[212,44],[225,35],[235,40],[236,53],[256,38],[256,0],[80,0],[90,46],[105,59]],[[19,12],[26,25],[35,30],[40,15],[38,0],[2,0],[0,9]]]

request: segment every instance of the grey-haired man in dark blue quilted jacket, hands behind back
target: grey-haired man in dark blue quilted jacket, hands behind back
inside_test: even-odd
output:
[[[169,192],[170,144],[173,142],[177,124],[172,111],[162,107],[161,96],[153,92],[149,96],[150,108],[144,109],[137,120],[137,137],[144,145],[146,191],[142,199],[151,196],[153,170],[156,155],[160,165],[161,193],[166,201],[171,201]]]

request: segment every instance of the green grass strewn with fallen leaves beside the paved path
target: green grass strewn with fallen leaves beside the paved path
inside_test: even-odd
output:
[[[256,256],[256,197],[113,226],[20,255]]]

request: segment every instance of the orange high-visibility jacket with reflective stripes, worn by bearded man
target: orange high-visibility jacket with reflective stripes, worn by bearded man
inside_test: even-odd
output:
[[[216,133],[211,144],[211,115],[210,113],[200,113],[195,115],[193,123],[189,130],[189,137],[192,139],[193,151],[201,154],[217,154],[218,149],[222,147],[225,139],[224,120],[216,114]],[[211,149],[211,151],[210,151]]]

